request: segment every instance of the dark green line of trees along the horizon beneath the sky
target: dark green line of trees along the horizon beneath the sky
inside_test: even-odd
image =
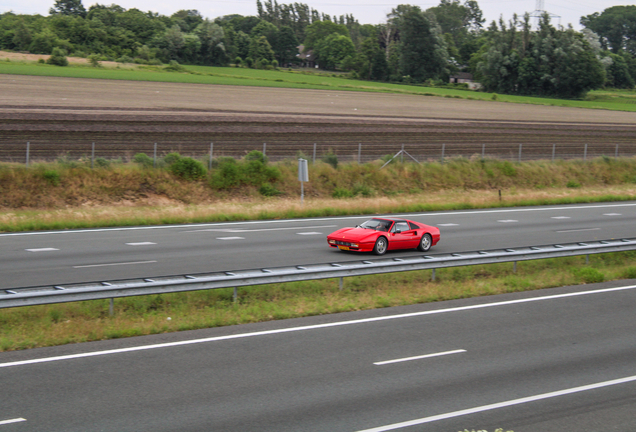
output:
[[[584,16],[581,32],[555,27],[547,14],[537,22],[514,15],[485,27],[476,0],[441,0],[426,10],[399,5],[377,25],[303,3],[256,0],[256,6],[257,16],[211,20],[196,10],[164,16],[116,4],[86,10],[81,0],[56,0],[48,16],[0,15],[0,49],[57,49],[142,64],[315,64],[359,79],[425,85],[468,72],[486,91],[565,98],[602,87],[634,88],[636,6]]]

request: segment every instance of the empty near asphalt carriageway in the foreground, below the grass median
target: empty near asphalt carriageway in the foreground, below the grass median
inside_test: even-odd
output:
[[[0,353],[0,432],[633,430],[634,282]]]

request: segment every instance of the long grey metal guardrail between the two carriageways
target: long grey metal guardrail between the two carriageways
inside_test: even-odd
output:
[[[0,308],[636,250],[636,238],[0,290]],[[342,279],[341,279],[342,280]],[[236,293],[236,291],[235,291]]]

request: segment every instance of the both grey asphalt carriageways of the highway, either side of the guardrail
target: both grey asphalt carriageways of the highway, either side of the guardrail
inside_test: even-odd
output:
[[[401,216],[440,227],[432,253],[636,232],[634,202]],[[6,288],[356,260],[325,236],[365,219],[6,233],[0,274]],[[0,432],[631,430],[635,283],[0,353]]]

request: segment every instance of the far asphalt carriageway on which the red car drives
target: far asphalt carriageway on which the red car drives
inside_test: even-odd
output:
[[[399,216],[440,228],[431,254],[636,234],[636,202]],[[365,255],[329,248],[326,236],[368,218],[0,234],[0,289],[359,260]]]

